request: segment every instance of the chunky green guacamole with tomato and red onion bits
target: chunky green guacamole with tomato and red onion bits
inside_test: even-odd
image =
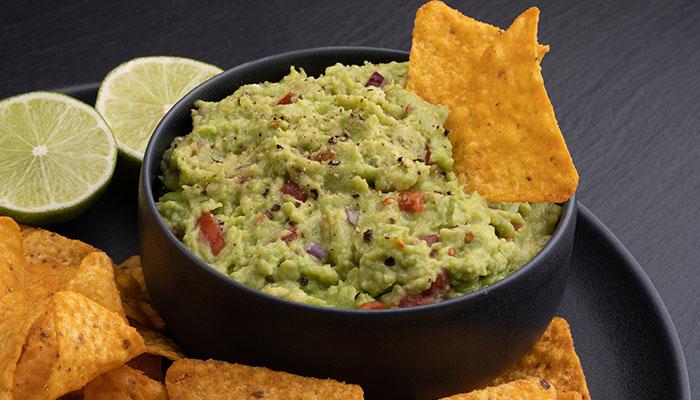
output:
[[[508,276],[561,207],[465,193],[449,110],[404,89],[407,67],[291,68],[198,101],[162,161],[165,223],[232,279],[321,306],[430,304]]]

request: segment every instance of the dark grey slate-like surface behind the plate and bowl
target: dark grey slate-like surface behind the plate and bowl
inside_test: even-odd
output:
[[[421,3],[3,2],[0,98],[99,82],[137,56],[227,69],[317,46],[409,50]],[[552,48],[543,75],[579,200],[649,275],[700,391],[700,2],[448,3],[502,28],[530,5],[542,11],[539,39]]]

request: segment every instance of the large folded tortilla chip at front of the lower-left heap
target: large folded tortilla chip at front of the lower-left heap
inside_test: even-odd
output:
[[[13,399],[55,399],[144,350],[121,316],[76,292],[55,293],[17,364]]]

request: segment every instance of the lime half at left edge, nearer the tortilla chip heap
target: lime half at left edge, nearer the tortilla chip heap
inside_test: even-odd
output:
[[[84,211],[109,184],[117,145],[91,106],[51,92],[0,101],[0,214],[52,225]]]

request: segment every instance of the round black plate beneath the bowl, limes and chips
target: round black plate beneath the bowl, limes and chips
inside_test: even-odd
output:
[[[97,84],[60,91],[94,104]],[[135,171],[117,168],[103,197],[54,229],[105,250],[115,262],[137,254]],[[593,399],[690,400],[678,335],[642,268],[615,235],[578,205],[573,261],[559,315],[571,325]]]

